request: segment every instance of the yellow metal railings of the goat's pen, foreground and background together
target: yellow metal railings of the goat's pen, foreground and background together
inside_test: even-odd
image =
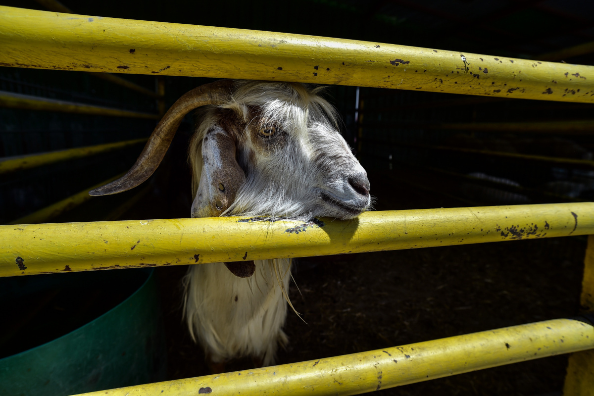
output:
[[[114,172],[105,175],[107,180],[104,182],[92,187],[85,186],[83,191],[63,201],[34,213],[23,214],[10,221],[12,225],[0,226],[1,277],[200,265],[241,261],[247,256],[251,259],[296,258],[588,236],[581,316],[530,322],[497,330],[485,329],[472,334],[301,363],[101,390],[94,394],[360,394],[564,353],[572,353],[564,394],[589,395],[594,391],[594,354],[591,351],[594,349],[594,203],[583,202],[584,199],[577,195],[536,191],[501,179],[439,169],[431,164],[430,153],[445,151],[460,157],[474,155],[495,158],[496,161],[519,160],[526,161],[530,166],[551,164],[558,169],[571,167],[584,172],[592,171],[594,161],[591,158],[563,159],[508,153],[485,147],[454,147],[443,144],[443,140],[428,142],[409,135],[403,141],[394,142],[390,127],[400,121],[374,119],[373,106],[398,108],[403,104],[381,102],[362,94],[363,87],[374,87],[462,93],[481,96],[481,100],[493,102],[531,99],[589,104],[594,102],[593,66],[476,55],[440,48],[131,21],[9,7],[0,7],[0,46],[0,64],[3,66],[92,71],[112,83],[124,84],[126,88],[140,91],[151,100],[159,100],[160,114],[165,110],[165,85],[158,84],[154,92],[106,73],[277,80],[362,87],[361,91],[357,90],[353,125],[353,141],[357,145],[359,158],[381,155],[386,159],[386,164],[389,161],[392,169],[411,156],[405,148],[422,149],[425,150],[424,160],[427,164],[423,172],[437,174],[440,178],[461,179],[465,183],[476,183],[485,188],[499,188],[522,197],[540,195],[547,199],[546,202],[565,201],[371,211],[353,221],[323,218],[320,223],[306,224],[287,221],[262,223],[241,217],[44,223],[89,199],[90,189],[118,177]],[[10,92],[0,93],[0,105],[11,109],[101,114],[153,121],[160,118],[153,113],[65,100],[43,100]],[[415,105],[407,106],[412,109]],[[461,102],[460,106],[466,104]],[[400,126],[406,127],[405,123],[401,122]],[[546,122],[540,125],[525,122],[425,122],[421,126],[416,123],[408,127],[440,131],[472,129],[485,133],[494,129],[528,134],[563,131],[587,135],[592,133],[593,126],[594,121],[587,120],[557,124]],[[364,133],[368,129],[378,132],[369,137]],[[138,149],[138,144],[144,141],[146,139],[143,136],[134,135],[115,143],[10,158],[0,161],[0,174],[15,175],[25,169],[48,166],[50,163],[129,147]],[[384,153],[390,144],[399,147],[390,148],[389,153]],[[399,158],[400,163],[396,158]],[[405,180],[405,183],[431,189],[431,186],[419,185],[414,176]],[[441,193],[447,194],[443,190]],[[116,211],[126,210],[144,194],[146,188],[132,195]],[[467,201],[472,204],[472,199]],[[572,315],[573,312],[567,314]]]

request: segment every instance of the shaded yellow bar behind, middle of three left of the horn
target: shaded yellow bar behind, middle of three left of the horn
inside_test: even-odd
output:
[[[126,140],[108,144],[98,144],[86,147],[70,148],[69,150],[51,151],[50,153],[31,154],[28,156],[5,157],[0,159],[0,175],[45,166],[56,162],[73,160],[93,156],[100,153],[119,150],[131,145],[146,142],[147,138]]]

